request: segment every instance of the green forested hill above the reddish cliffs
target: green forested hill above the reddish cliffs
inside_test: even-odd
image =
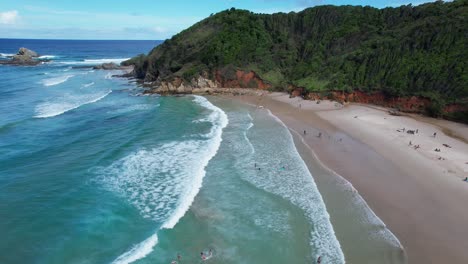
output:
[[[135,64],[135,75],[147,82],[180,77],[189,83],[200,74],[229,79],[242,70],[254,71],[271,89],[359,90],[422,96],[438,106],[463,103],[468,98],[467,3],[317,6],[272,15],[231,9],[127,64]]]

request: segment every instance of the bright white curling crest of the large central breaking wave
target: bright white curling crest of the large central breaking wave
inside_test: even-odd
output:
[[[179,222],[179,220],[189,210],[190,206],[192,205],[195,199],[195,196],[197,196],[198,192],[202,187],[203,178],[206,175],[206,166],[208,165],[210,160],[216,155],[219,147],[221,146],[223,129],[229,123],[229,119],[226,113],[217,106],[213,105],[205,97],[195,95],[193,101],[201,105],[205,109],[212,111],[207,118],[207,120],[209,120],[213,124],[210,132],[208,133],[208,135],[212,136],[210,142],[210,151],[208,155],[206,155],[201,161],[202,166],[200,166],[198,171],[194,173],[195,178],[192,182],[193,188],[191,188],[190,191],[187,194],[185,194],[185,196],[182,199],[180,199],[181,201],[179,202],[179,205],[175,209],[174,213],[172,213],[169,219],[164,222],[164,224],[161,226],[161,229],[174,228],[175,225]],[[146,257],[153,251],[154,247],[158,244],[158,231],[156,231],[153,235],[151,235],[144,241],[134,245],[129,251],[120,255],[112,263],[129,264]]]

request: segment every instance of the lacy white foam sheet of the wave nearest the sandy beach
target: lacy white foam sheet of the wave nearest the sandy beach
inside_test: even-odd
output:
[[[283,128],[274,128],[274,133],[270,131],[272,128],[261,128],[264,130],[254,135],[255,142],[259,144],[255,158],[267,163],[261,165],[261,171],[244,175],[244,179],[259,188],[280,195],[304,211],[313,225],[310,243],[316,249],[314,259],[322,256],[325,263],[345,263],[325,203],[294,146],[291,133],[279,118],[271,112],[268,114]],[[274,142],[275,149],[281,149],[281,152],[272,151],[268,142]]]

